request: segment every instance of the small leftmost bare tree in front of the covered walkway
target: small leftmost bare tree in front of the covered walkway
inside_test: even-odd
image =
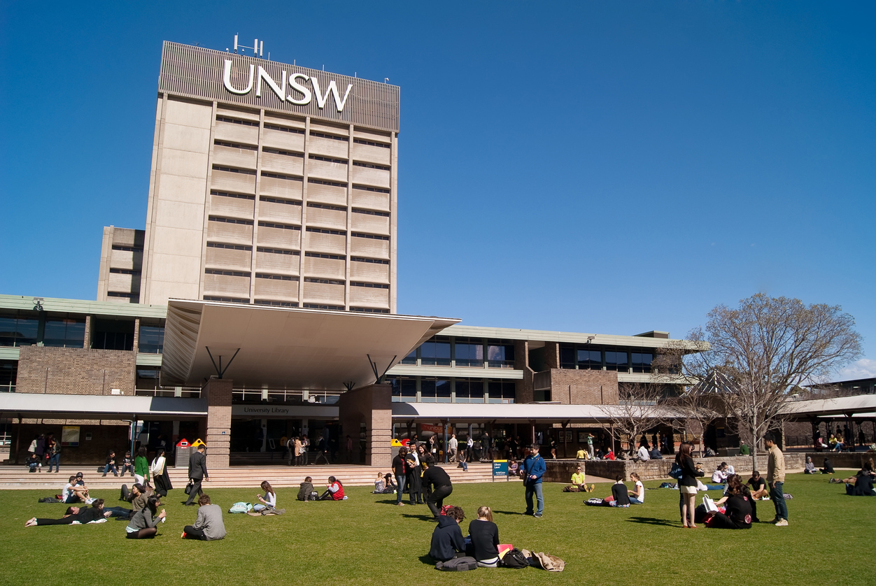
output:
[[[667,410],[661,385],[621,383],[618,385],[618,405],[601,406],[605,418],[621,434],[630,437],[630,449],[635,455],[635,442],[648,429],[665,423],[675,413]]]

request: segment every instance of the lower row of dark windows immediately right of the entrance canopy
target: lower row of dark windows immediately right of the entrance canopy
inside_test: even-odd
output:
[[[395,377],[392,400],[420,403],[513,403],[517,385],[495,378]]]

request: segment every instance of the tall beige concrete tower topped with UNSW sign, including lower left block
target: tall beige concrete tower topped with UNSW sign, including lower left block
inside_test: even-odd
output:
[[[396,313],[398,132],[397,86],[165,42],[142,278],[105,230],[98,299]]]

